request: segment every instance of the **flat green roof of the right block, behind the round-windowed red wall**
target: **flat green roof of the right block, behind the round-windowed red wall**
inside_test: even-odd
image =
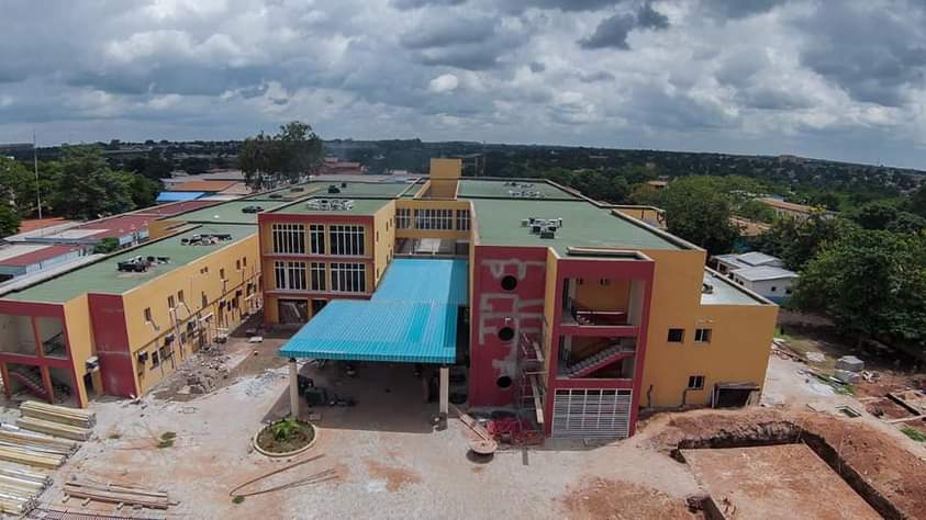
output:
[[[479,241],[486,246],[553,247],[560,256],[566,256],[569,247],[681,249],[654,230],[583,200],[473,199],[472,204]],[[529,217],[562,218],[562,228],[556,238],[540,238],[521,225]]]

